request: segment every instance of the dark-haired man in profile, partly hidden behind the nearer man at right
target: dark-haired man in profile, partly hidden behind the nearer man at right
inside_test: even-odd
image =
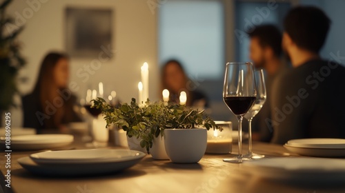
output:
[[[277,74],[288,68],[282,61],[282,33],[274,25],[255,26],[248,32],[250,37],[249,57],[255,68],[264,69],[266,72],[266,103],[262,110],[254,117],[252,123],[253,140],[270,141],[273,136],[272,125],[266,123],[270,117],[270,99],[272,83]]]

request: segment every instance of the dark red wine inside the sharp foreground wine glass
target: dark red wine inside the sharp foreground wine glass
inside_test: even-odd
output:
[[[224,102],[238,116],[246,114],[252,107],[255,99],[255,96],[226,96],[224,97]]]

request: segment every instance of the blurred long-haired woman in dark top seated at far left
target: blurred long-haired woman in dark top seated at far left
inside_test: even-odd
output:
[[[68,57],[50,52],[44,57],[31,94],[23,96],[23,126],[37,133],[63,132],[66,123],[81,121],[73,111],[76,97],[68,89]]]

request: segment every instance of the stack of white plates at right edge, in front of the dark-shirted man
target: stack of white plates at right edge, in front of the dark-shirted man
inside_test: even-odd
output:
[[[293,139],[284,147],[304,156],[345,157],[345,139]]]

